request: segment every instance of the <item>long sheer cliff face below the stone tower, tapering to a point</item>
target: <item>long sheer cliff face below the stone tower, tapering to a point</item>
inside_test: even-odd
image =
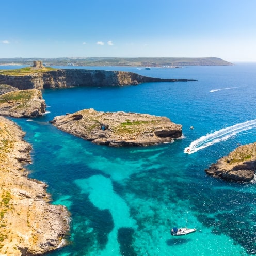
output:
[[[144,82],[195,81],[188,79],[161,79],[123,71],[86,69],[59,69],[46,72],[31,72],[28,75],[0,74],[0,84],[8,84],[19,90],[71,86],[122,86]]]

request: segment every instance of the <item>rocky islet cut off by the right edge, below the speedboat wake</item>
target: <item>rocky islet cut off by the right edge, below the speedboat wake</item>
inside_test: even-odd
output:
[[[251,181],[256,169],[256,142],[236,148],[212,164],[206,173],[225,180]]]

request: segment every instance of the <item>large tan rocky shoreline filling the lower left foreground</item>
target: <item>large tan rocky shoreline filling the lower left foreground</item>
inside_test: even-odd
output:
[[[0,255],[42,255],[65,245],[66,207],[51,205],[46,184],[27,178],[31,146],[24,132],[0,117]]]

